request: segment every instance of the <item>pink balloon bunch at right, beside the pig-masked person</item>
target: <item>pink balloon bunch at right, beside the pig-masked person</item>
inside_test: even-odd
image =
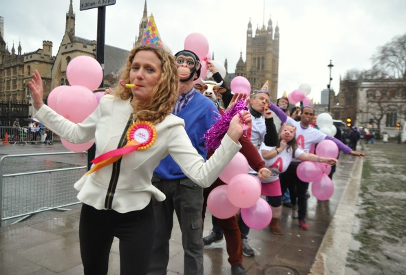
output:
[[[332,140],[323,140],[317,145],[316,154],[336,158],[339,148]],[[312,182],[312,194],[321,201],[330,199],[334,192],[334,184],[328,177],[330,172],[331,165],[323,162],[302,162],[296,171],[301,181]]]

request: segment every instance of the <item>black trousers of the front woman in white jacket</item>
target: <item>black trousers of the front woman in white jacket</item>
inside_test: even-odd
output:
[[[107,274],[114,237],[120,239],[120,274],[147,274],[155,218],[152,203],[142,210],[119,213],[83,203],[79,225],[85,275]]]

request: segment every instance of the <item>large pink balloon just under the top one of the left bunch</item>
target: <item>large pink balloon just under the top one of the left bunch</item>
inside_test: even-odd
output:
[[[68,120],[83,122],[97,107],[96,96],[83,86],[69,86],[64,89],[56,101],[58,113]]]

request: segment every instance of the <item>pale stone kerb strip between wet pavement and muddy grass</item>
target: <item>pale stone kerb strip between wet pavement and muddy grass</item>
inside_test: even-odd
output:
[[[352,176],[345,185],[339,206],[324,235],[310,274],[345,274],[345,263],[352,241],[356,203],[359,197],[363,158],[357,157]]]

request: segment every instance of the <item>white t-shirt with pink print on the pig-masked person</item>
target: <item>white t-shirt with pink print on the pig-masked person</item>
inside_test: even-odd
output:
[[[262,150],[273,150],[275,147],[276,146],[270,147],[266,146],[265,144],[261,144],[261,147],[259,148],[259,155],[261,155],[261,158],[264,159],[264,157],[262,157]],[[295,158],[299,157],[303,153],[304,152],[300,148],[297,148],[295,151]],[[266,168],[270,170],[270,177],[259,180],[264,183],[275,181],[279,177],[279,174],[284,173],[286,169],[288,169],[290,162],[292,162],[292,148],[285,147],[284,150],[279,152],[278,155],[272,159],[264,159],[264,162]]]

